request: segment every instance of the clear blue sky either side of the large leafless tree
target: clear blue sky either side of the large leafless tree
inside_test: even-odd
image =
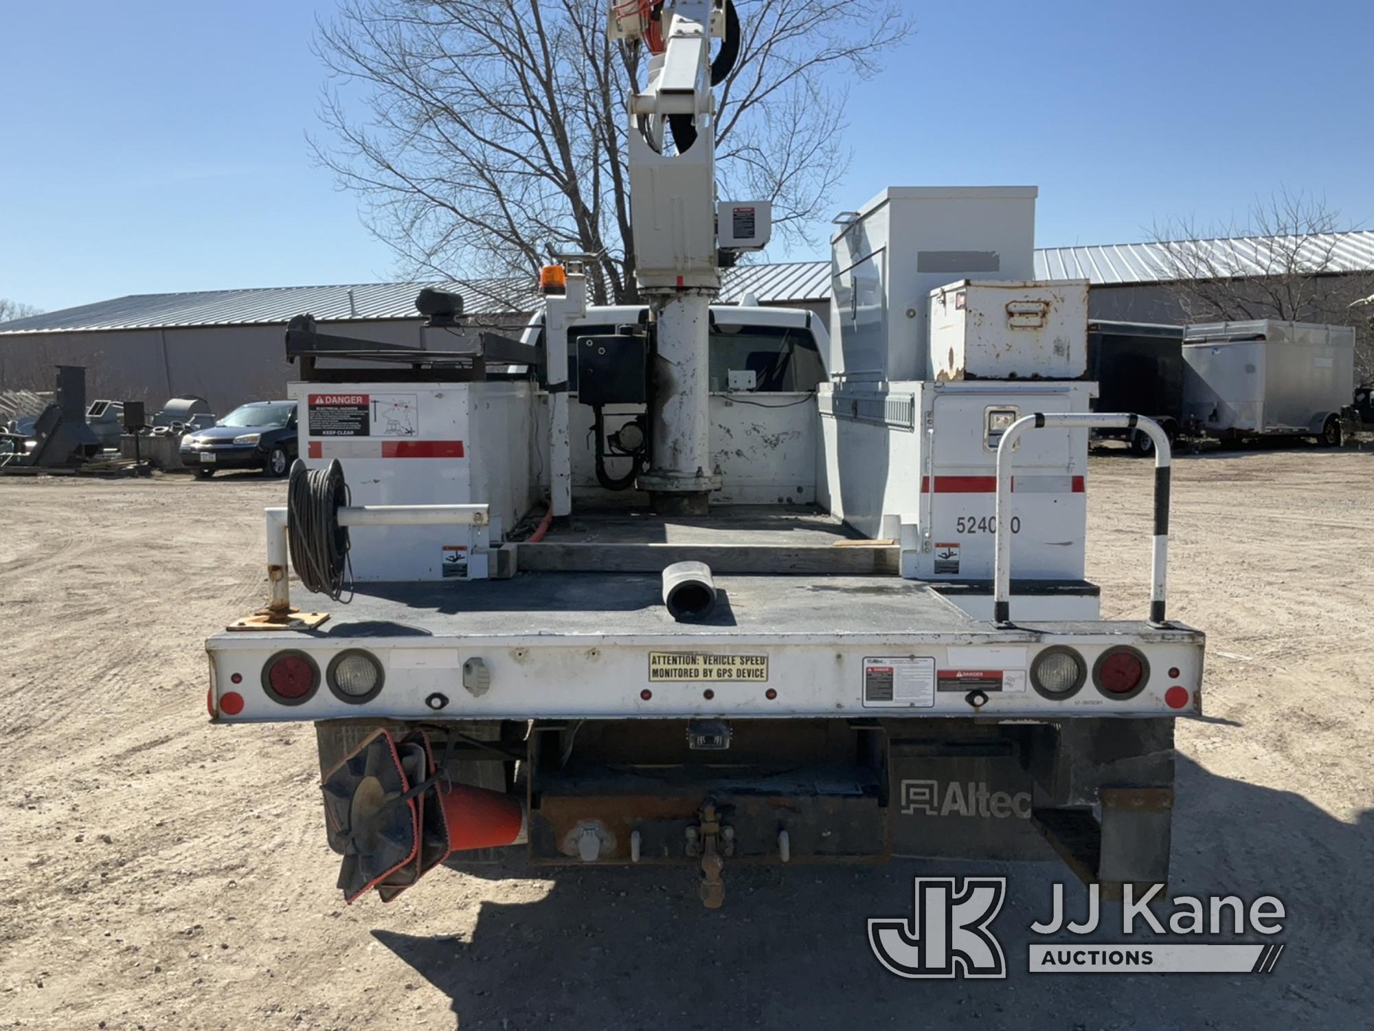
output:
[[[316,10],[333,5],[4,4],[0,297],[52,311],[392,278],[306,151]],[[912,10],[918,34],[851,91],[835,210],[885,186],[1029,183],[1041,246],[1113,243],[1286,186],[1374,225],[1369,0]]]

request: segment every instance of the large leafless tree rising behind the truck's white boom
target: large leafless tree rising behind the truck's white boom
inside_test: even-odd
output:
[[[845,84],[911,25],[894,0],[735,3],[721,195],[772,201],[775,231],[809,242],[849,161]],[[633,298],[627,102],[644,55],[607,38],[605,0],[344,0],[316,52],[334,139],[315,154],[408,269],[528,282],[552,246],[598,256],[595,302]]]

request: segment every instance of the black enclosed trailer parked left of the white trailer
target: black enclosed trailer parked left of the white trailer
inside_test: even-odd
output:
[[[1183,327],[1090,322],[1087,378],[1098,381],[1096,411],[1149,415],[1175,440],[1183,421]],[[1154,447],[1135,430],[1096,430],[1096,434],[1128,440],[1138,455],[1149,455]]]

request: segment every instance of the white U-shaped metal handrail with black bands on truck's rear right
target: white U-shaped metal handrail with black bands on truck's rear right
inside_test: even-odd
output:
[[[1011,625],[1011,448],[1028,429],[1134,429],[1154,441],[1154,553],[1150,559],[1150,625],[1168,625],[1164,619],[1164,581],[1169,551],[1169,465],[1173,459],[1168,434],[1143,415],[1106,412],[1036,412],[1010,426],[998,441],[998,553],[993,565],[992,619]]]

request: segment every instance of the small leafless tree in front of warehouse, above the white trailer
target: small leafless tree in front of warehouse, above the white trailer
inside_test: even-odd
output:
[[[1243,221],[1200,231],[1178,219],[1156,225],[1169,293],[1189,322],[1283,319],[1353,326],[1356,375],[1374,375],[1374,322],[1360,304],[1374,271],[1342,250],[1352,227],[1326,202],[1281,190],[1257,199]]]

